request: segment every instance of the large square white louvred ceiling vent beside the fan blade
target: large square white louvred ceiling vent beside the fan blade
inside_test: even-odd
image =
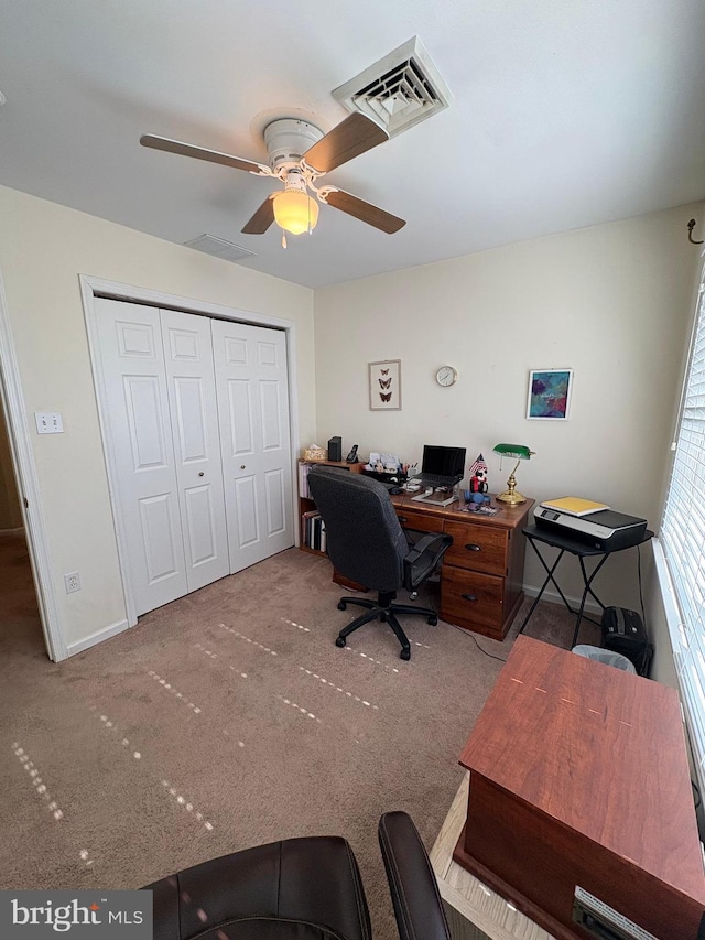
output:
[[[390,137],[442,111],[452,95],[419,36],[400,45],[333,93],[348,111],[361,111]]]

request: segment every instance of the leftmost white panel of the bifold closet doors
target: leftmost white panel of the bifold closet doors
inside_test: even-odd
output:
[[[96,299],[105,433],[135,614],[187,591],[159,311]]]

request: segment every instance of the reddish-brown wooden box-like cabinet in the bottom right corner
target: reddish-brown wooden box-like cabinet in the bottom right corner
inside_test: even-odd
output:
[[[519,636],[460,764],[455,861],[558,940],[705,936],[675,690]]]

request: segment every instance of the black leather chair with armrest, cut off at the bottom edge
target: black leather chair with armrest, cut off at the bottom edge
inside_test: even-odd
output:
[[[386,813],[379,842],[401,940],[449,940],[431,862],[410,817]],[[235,852],[147,886],[154,940],[371,940],[352,850],[339,836]]]

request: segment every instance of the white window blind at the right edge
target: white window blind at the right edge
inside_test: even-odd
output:
[[[675,668],[687,711],[691,743],[705,771],[705,274],[661,521],[660,541],[680,623],[671,627]]]

